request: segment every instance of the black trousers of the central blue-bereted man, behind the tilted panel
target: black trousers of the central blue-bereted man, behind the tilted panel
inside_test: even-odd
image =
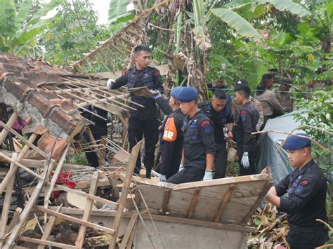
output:
[[[204,178],[204,169],[185,167],[175,175],[171,176],[166,182],[180,184],[185,182],[198,182]]]

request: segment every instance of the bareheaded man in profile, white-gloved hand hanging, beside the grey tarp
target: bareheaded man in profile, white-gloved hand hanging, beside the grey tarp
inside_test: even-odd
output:
[[[258,143],[256,136],[256,124],[259,119],[259,112],[249,100],[251,89],[247,85],[240,85],[235,88],[236,104],[242,105],[240,115],[236,123],[235,139],[237,143],[237,155],[240,160],[240,175],[252,175],[256,168],[256,153]]]

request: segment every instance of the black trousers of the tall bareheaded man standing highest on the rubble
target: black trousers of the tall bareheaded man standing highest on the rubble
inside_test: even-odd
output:
[[[154,166],[155,147],[159,137],[159,121],[157,119],[140,120],[129,118],[129,147],[132,149],[145,135],[145,156],[143,163],[150,172]],[[139,174],[141,169],[141,154],[138,155],[134,173]],[[149,174],[150,175],[150,174]]]

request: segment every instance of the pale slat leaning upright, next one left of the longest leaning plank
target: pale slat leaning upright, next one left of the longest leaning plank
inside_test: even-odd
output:
[[[89,194],[94,195],[96,194],[97,189],[97,182],[98,182],[98,172],[93,173],[93,179],[91,180],[91,187],[89,189]],[[86,208],[84,209],[84,215],[82,217],[82,220],[88,221],[91,215],[91,208],[93,208],[93,200],[88,199],[86,201]],[[75,242],[75,245],[77,248],[82,248],[82,245],[84,243],[84,236],[86,235],[86,226],[81,225],[79,229],[79,234],[77,235],[77,241]]]

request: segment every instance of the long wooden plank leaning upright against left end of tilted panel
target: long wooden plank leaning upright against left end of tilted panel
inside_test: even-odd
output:
[[[141,149],[141,141],[136,144],[136,146],[133,147],[131,156],[129,158],[129,165],[126,168],[126,177],[124,180],[124,186],[122,187],[122,194],[120,195],[117,215],[115,217],[115,221],[113,222],[113,229],[115,231],[115,234],[111,238],[111,242],[109,245],[109,248],[115,248],[117,236],[118,236],[118,229],[120,222],[122,220],[122,215],[126,203],[127,194],[129,194],[129,185],[131,184],[132,175],[134,172],[134,168],[136,167],[136,160],[138,159],[138,153]]]

